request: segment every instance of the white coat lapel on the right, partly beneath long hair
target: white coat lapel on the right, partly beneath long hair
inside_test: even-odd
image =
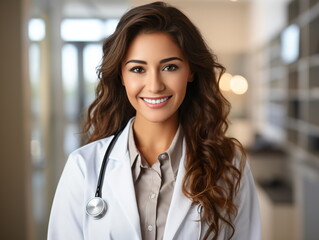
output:
[[[172,240],[180,225],[185,219],[188,211],[192,206],[192,201],[187,198],[182,192],[183,178],[185,176],[185,157],[186,157],[186,145],[183,141],[183,154],[179,164],[177,179],[174,187],[171,205],[168,211],[164,240]]]

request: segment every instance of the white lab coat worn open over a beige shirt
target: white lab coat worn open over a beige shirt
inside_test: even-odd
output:
[[[94,197],[103,156],[111,138],[98,140],[70,154],[54,197],[48,240],[139,240],[140,220],[127,150],[127,124],[119,136],[107,163],[102,197],[108,209],[99,220],[88,216],[87,202]],[[203,239],[207,230],[199,219],[198,206],[182,193],[185,174],[185,143],[178,175],[168,211],[164,240]],[[260,240],[260,216],[254,181],[246,164],[236,203],[234,221],[236,240]],[[219,240],[228,239],[230,230],[223,228]]]

